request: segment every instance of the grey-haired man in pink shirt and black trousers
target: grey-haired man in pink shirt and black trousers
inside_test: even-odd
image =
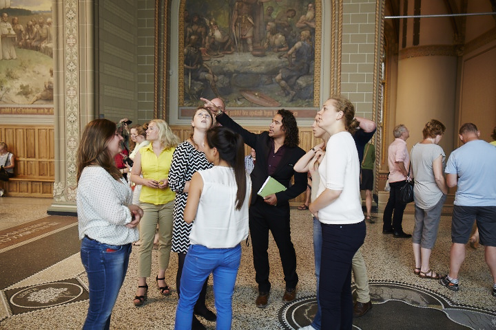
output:
[[[400,239],[409,239],[411,234],[406,234],[402,228],[403,211],[406,204],[400,200],[400,188],[406,181],[410,166],[410,155],[406,148],[406,139],[410,135],[404,124],[397,125],[393,130],[393,135],[395,140],[388,148],[388,179],[391,190],[389,190],[389,200],[386,208],[384,208],[382,234],[393,234]],[[393,219],[393,223],[391,223],[391,219]]]

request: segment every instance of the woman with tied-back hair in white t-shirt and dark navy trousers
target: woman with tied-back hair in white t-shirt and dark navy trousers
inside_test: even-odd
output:
[[[331,135],[318,170],[318,197],[309,207],[322,225],[321,329],[351,329],[351,260],[365,239],[360,164],[351,136],[359,122],[353,104],[337,96],[324,102],[318,115],[318,125]]]

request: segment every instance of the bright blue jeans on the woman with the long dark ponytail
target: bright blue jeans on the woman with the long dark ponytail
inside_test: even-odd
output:
[[[209,249],[203,245],[189,246],[181,276],[181,294],[176,309],[174,329],[191,329],[194,305],[210,273],[214,274],[216,329],[231,329],[232,296],[240,261],[240,244],[229,249]]]

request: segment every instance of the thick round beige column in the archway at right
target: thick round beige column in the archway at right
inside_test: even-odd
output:
[[[407,1],[409,8],[400,12],[439,14],[442,1],[422,1],[422,8]],[[400,1],[403,5],[404,1]],[[417,20],[417,21],[415,21]],[[406,28],[404,28],[406,24]],[[440,146],[446,153],[453,150],[458,56],[455,33],[448,17],[402,19],[400,54],[397,69],[396,124],[405,124],[410,131],[409,151],[422,140],[422,129],[428,120],[440,120],[446,126]],[[392,132],[387,132],[393,140]]]

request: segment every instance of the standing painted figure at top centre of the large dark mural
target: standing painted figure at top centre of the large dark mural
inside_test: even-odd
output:
[[[269,0],[239,0],[234,3],[231,31],[238,52],[251,52],[263,38],[263,5]],[[261,33],[261,36],[260,36]]]

